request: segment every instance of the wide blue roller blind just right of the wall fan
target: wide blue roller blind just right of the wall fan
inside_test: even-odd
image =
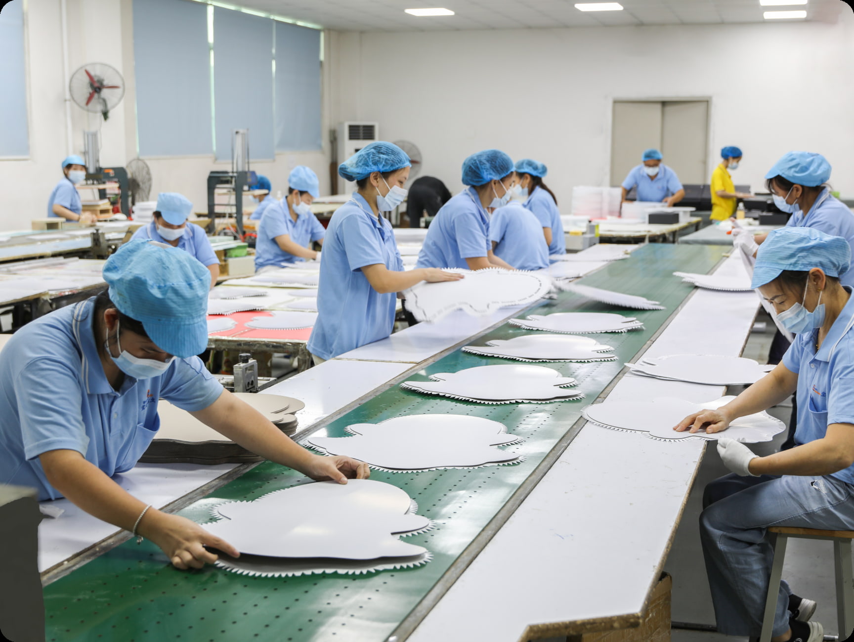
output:
[[[200,155],[213,149],[207,9],[181,0],[133,3],[142,156]]]

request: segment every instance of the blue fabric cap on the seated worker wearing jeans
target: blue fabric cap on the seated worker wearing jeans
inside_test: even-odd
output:
[[[814,227],[781,227],[770,231],[759,246],[751,287],[771,283],[784,270],[820,267],[828,277],[841,277],[850,266],[851,247],[842,236],[830,236]]]

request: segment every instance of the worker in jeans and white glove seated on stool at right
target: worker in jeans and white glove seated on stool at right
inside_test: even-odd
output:
[[[771,573],[769,526],[854,530],[854,297],[840,283],[850,267],[851,248],[840,236],[809,227],[771,231],[757,253],[752,287],[797,336],[768,375],[725,406],[676,426],[717,433],[798,391],[791,450],[757,457],[738,441],[718,441],[734,474],[706,487],[700,539],[719,633],[760,634]],[[821,624],[803,622],[810,612],[797,619],[790,613],[803,604],[810,601],[793,597],[783,582],[773,642],[822,640]],[[839,632],[840,639],[848,633]]]

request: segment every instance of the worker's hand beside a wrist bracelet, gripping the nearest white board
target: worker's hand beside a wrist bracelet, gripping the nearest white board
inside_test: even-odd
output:
[[[154,508],[143,515],[137,533],[153,541],[166,553],[177,569],[201,569],[217,561],[218,556],[205,549],[211,546],[231,557],[240,557],[240,552],[227,541],[208,533],[196,522],[170,515]]]

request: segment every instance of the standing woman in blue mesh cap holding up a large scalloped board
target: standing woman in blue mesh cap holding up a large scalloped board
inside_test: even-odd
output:
[[[338,167],[355,181],[353,197],[336,209],[320,261],[318,320],[308,340],[315,363],[384,339],[395,325],[395,293],[421,281],[462,277],[436,269],[403,271],[395,235],[383,212],[407,196],[409,156],[393,143],[370,143]]]

